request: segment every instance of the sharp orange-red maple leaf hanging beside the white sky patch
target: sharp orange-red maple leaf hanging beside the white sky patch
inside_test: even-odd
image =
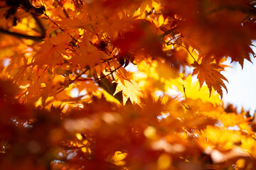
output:
[[[212,57],[204,57],[201,64],[198,62],[193,62],[191,66],[196,67],[193,69],[193,75],[198,74],[197,78],[200,83],[200,87],[203,86],[203,82],[206,81],[208,89],[211,94],[212,87],[215,91],[220,94],[220,97],[223,97],[223,91],[221,87],[223,87],[227,92],[228,89],[225,86],[223,80],[228,81],[220,72],[219,69],[223,69],[218,64],[213,63],[214,59]]]

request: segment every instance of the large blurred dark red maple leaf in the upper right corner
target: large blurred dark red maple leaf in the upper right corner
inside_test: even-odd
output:
[[[250,54],[255,55],[250,47],[255,29],[245,24],[254,22],[247,16],[253,8],[250,4],[245,1],[208,1],[201,5],[192,0],[163,2],[164,14],[181,15],[176,29],[201,54],[213,55],[216,62],[229,56],[241,67],[245,59],[251,62]],[[183,10],[183,4],[189,4],[190,8]]]

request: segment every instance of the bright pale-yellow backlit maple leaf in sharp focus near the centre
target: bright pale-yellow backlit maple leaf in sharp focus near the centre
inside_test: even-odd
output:
[[[117,81],[117,88],[114,95],[119,91],[122,91],[123,104],[125,104],[130,98],[132,103],[140,103],[140,97],[142,97],[142,90],[137,83],[132,79],[119,79]]]

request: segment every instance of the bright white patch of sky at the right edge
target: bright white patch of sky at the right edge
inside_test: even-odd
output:
[[[243,107],[252,115],[256,110],[256,58],[251,57],[251,60],[244,61],[243,69],[238,62],[233,62],[233,68],[226,68],[222,74],[228,79],[225,83],[228,94],[223,90],[224,103],[233,103],[238,111]],[[230,59],[223,64],[230,64]]]

